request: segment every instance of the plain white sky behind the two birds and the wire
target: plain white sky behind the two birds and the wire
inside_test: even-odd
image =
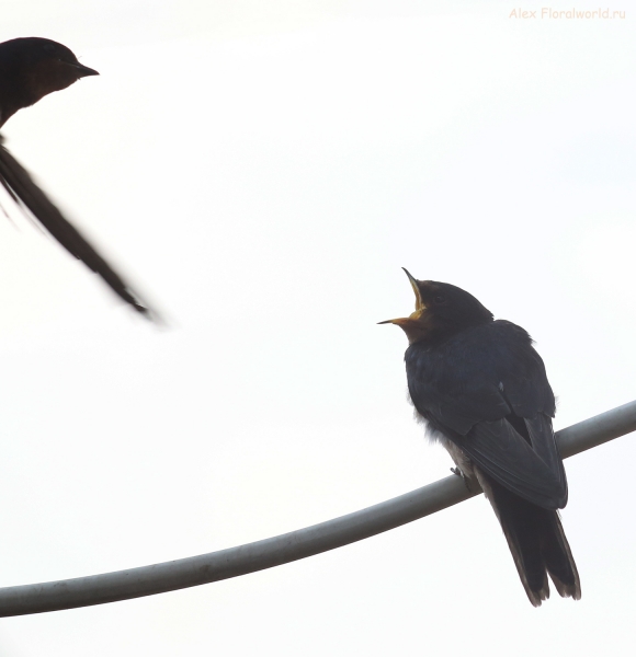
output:
[[[406,338],[376,325],[412,308],[400,266],[530,331],[557,428],[636,399],[636,13],[475,4],[4,0],[2,41],[54,38],[101,73],[13,117],[8,147],[171,327],[1,199],[0,586],[447,475],[406,402]],[[567,461],[577,603],[531,607],[479,497],[242,578],[7,619],[0,655],[615,654],[635,451]]]

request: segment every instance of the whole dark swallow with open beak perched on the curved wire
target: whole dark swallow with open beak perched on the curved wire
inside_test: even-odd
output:
[[[557,509],[568,486],[552,427],[555,397],[530,335],[493,320],[447,283],[417,280],[416,311],[388,320],[406,333],[408,387],[418,415],[490,500],[532,604],[581,585]]]

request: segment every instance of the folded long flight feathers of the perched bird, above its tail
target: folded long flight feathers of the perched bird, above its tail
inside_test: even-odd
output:
[[[479,422],[452,440],[509,491],[543,508],[560,509],[567,504],[568,487],[552,422],[543,413],[524,422],[532,445],[506,418]]]

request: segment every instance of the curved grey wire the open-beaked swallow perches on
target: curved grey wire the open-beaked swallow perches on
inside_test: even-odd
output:
[[[636,401],[557,433],[564,458],[636,430]],[[247,575],[334,550],[478,495],[452,475],[353,514],[271,539],[171,562],[0,588],[0,616],[116,602]]]

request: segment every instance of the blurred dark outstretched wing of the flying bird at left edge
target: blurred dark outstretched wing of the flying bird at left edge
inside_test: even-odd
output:
[[[75,257],[101,276],[111,289],[137,312],[150,319],[154,313],[140,300],[86,238],[63,216],[29,172],[4,148],[0,137],[0,184],[11,197]]]

